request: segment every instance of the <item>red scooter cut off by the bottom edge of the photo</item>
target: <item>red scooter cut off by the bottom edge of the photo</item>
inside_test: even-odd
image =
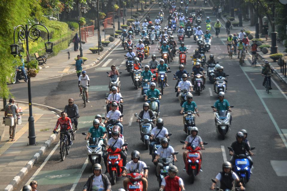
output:
[[[126,167],[121,167],[122,170],[126,170]],[[149,169],[149,167],[144,167],[144,170]],[[143,174],[138,172],[132,172],[126,174],[126,178],[129,178],[127,185],[127,191],[142,191],[143,183],[140,179],[143,177]]]

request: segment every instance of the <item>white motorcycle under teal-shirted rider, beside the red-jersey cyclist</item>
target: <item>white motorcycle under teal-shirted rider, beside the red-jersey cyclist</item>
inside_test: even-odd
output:
[[[107,131],[103,132],[103,134],[106,134]],[[86,133],[82,133],[82,135],[86,135]],[[101,159],[103,156],[103,147],[102,144],[103,142],[103,137],[100,138],[95,138],[95,137],[90,137],[89,140],[87,141],[87,155],[89,158],[89,161],[91,162],[92,166],[94,164],[100,164]]]

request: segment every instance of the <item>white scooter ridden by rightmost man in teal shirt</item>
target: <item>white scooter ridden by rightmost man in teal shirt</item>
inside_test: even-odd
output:
[[[230,107],[234,107],[231,105]],[[211,108],[215,108],[214,106],[211,106]],[[231,114],[227,110],[220,110],[215,111],[215,125],[218,129],[218,132],[220,133],[222,140],[225,139],[225,135],[228,132],[229,126],[230,126],[230,120],[231,120]]]

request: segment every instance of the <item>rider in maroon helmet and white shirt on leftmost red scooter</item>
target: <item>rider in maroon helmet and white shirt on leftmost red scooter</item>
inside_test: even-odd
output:
[[[122,147],[122,145],[125,143],[124,140],[122,138],[119,137],[120,135],[120,131],[115,129],[112,131],[112,137],[109,139],[108,141],[108,145],[107,147],[109,148],[110,146],[112,147],[116,147],[118,149],[121,149],[122,151],[120,152],[120,158],[123,159],[123,166],[126,166],[126,153],[124,153],[123,151],[125,151],[125,147]],[[106,166],[106,172],[105,174],[108,172],[107,169],[107,159],[108,159],[108,154],[103,155],[103,159],[104,159],[104,164]]]

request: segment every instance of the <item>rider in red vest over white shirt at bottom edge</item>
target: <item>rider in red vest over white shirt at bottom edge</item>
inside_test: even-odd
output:
[[[179,178],[176,173],[178,169],[175,165],[170,165],[168,168],[168,176],[164,177],[161,182],[161,188],[159,191],[174,191],[174,190],[181,190],[185,191],[183,180]]]

